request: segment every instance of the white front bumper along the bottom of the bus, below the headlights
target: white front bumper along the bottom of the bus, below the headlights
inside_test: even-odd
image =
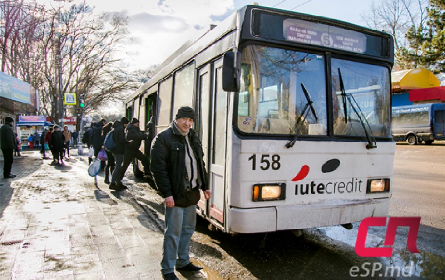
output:
[[[331,200],[265,208],[231,208],[229,232],[275,232],[348,224],[370,216],[387,216],[390,198]]]

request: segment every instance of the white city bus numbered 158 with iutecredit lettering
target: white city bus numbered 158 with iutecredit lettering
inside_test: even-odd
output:
[[[224,232],[350,224],[388,214],[392,64],[386,33],[246,6],[159,65],[126,112],[160,132],[195,109],[212,192],[197,212]]]

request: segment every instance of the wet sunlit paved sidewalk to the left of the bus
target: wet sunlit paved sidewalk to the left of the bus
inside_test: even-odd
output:
[[[162,279],[162,230],[128,191],[88,176],[85,158],[64,166],[37,151],[0,179],[0,280]]]

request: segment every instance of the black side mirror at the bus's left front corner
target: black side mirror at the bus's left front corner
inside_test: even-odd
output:
[[[239,65],[241,64],[241,52],[236,53],[236,67],[235,67],[235,52],[224,53],[223,58],[223,89],[226,92],[239,91]]]

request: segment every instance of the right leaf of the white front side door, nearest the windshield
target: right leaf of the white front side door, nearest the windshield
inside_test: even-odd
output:
[[[212,68],[212,117],[210,145],[210,217],[224,224],[225,169],[227,145],[227,92],[223,90],[223,60]]]

